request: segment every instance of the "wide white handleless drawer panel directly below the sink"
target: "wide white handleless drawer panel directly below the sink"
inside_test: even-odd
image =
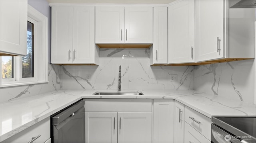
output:
[[[151,99],[84,99],[85,112],[152,112]]]

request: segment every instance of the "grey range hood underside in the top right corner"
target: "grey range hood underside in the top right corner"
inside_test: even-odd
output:
[[[256,8],[256,0],[229,0],[229,8]]]

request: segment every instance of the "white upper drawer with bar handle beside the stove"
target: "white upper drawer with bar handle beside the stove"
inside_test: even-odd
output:
[[[211,139],[211,119],[200,114],[199,112],[185,106],[185,121],[204,135],[207,139]]]

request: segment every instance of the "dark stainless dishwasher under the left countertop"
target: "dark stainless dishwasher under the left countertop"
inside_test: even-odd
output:
[[[85,143],[83,100],[54,114],[51,122],[53,143]]]

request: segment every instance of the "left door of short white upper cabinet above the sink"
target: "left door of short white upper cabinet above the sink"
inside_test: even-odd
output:
[[[124,43],[124,7],[96,6],[95,43]]]

